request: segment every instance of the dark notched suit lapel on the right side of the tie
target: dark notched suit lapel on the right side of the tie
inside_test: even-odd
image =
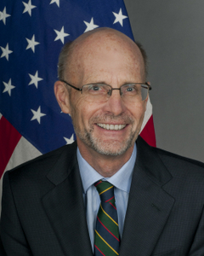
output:
[[[154,148],[139,137],[120,256],[147,256],[156,246],[173,207],[173,197],[161,187],[172,179]]]

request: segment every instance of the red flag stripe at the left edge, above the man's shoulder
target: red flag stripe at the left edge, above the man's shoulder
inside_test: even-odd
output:
[[[17,131],[7,119],[2,117],[0,119],[0,178],[14,152],[14,148],[20,141],[20,137],[19,131]]]

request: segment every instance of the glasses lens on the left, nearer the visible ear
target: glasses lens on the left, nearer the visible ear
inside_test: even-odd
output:
[[[106,102],[111,94],[111,86],[108,84],[85,84],[82,86],[82,94],[88,102]]]

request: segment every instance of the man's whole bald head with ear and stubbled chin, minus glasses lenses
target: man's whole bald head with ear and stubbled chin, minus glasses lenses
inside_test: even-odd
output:
[[[59,79],[77,88],[84,84],[144,83],[144,57],[130,38],[110,28],[82,34],[59,57]],[[68,88],[68,90],[67,90]],[[70,113],[82,151],[105,155],[133,150],[144,119],[144,102],[124,102],[113,90],[106,102],[88,102],[81,91],[64,82],[54,85],[55,96],[64,113]]]

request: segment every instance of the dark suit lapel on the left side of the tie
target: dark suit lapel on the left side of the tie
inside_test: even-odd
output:
[[[48,219],[65,255],[93,255],[82,199],[82,183],[77,165],[77,144],[65,150],[48,173],[54,183],[42,198]]]

